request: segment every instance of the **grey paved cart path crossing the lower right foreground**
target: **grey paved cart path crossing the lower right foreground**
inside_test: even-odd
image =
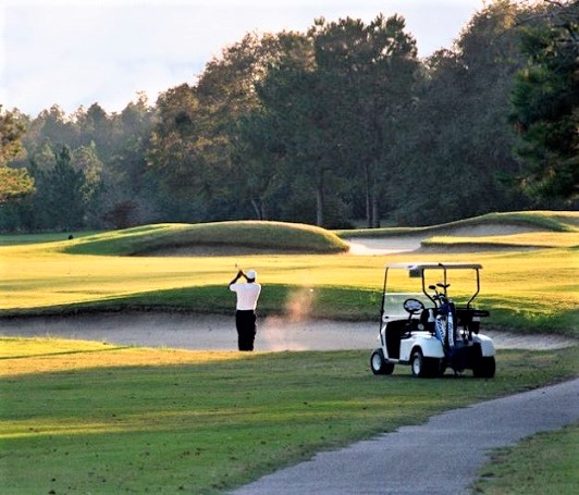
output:
[[[579,420],[579,379],[476,404],[268,474],[234,495],[468,494],[489,450]]]

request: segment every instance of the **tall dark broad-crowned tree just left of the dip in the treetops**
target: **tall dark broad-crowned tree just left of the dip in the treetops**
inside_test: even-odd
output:
[[[312,30],[316,61],[334,132],[334,154],[356,164],[369,227],[380,225],[387,175],[397,147],[396,120],[411,104],[419,61],[397,15],[327,23]],[[390,157],[390,158],[389,158]]]

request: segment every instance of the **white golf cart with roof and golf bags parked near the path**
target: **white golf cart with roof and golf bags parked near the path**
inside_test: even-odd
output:
[[[420,378],[442,376],[448,368],[455,375],[470,369],[476,378],[493,378],[494,345],[479,333],[489,311],[473,306],[481,269],[478,263],[386,264],[372,372],[392,374],[395,364],[409,364],[412,375]],[[467,294],[463,300],[448,296],[451,273],[453,287],[456,281],[460,294]],[[395,292],[401,288],[414,292]]]

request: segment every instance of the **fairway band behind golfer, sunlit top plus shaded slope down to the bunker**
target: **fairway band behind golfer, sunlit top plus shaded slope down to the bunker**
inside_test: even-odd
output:
[[[124,257],[69,255],[50,245],[0,248],[0,313],[59,313],[125,307],[224,313],[235,263],[263,284],[260,311],[283,312],[300,288],[313,288],[312,317],[368,320],[379,314],[385,262],[409,255],[261,255]],[[489,324],[519,332],[577,336],[577,249],[411,253],[423,261],[477,261],[483,271],[479,306]],[[403,289],[403,287],[401,287]]]

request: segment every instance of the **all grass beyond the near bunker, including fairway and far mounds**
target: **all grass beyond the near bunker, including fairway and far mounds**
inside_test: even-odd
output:
[[[344,243],[335,234],[275,222],[149,225],[17,246],[13,245],[12,236],[11,245],[0,247],[3,261],[0,311],[13,314],[135,307],[223,313],[232,305],[225,286],[236,267],[242,267],[254,268],[259,273],[264,285],[260,301],[263,314],[287,311],[296,292],[312,288],[308,296],[310,315],[367,320],[377,318],[379,311],[384,264],[419,258],[482,263],[478,301],[492,311],[489,323],[494,326],[577,335],[579,213],[494,214],[454,226],[480,226],[484,222],[493,226],[525,224],[541,228],[516,236],[515,245],[532,240],[535,249],[513,248],[509,244],[514,243],[513,236],[505,235],[486,238],[482,247],[467,252],[457,246],[475,243],[477,238],[439,238],[434,252],[353,256],[344,253]],[[444,228],[435,226],[431,232]],[[405,233],[423,231],[405,230]],[[380,232],[386,237],[393,234]],[[394,233],[399,235],[398,230]],[[342,236],[358,234],[360,231],[341,233]],[[223,246],[227,239],[233,253],[247,252],[247,248],[257,246],[271,252],[130,256],[175,246]],[[441,248],[441,244],[446,248]],[[505,244],[512,248],[503,249]],[[539,245],[549,247],[537,249]],[[282,247],[293,252],[281,253]]]

